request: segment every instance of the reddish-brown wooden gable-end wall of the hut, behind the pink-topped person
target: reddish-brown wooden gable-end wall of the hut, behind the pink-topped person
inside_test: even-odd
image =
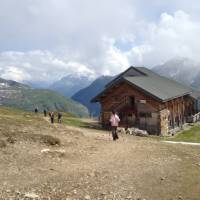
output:
[[[149,133],[160,132],[160,103],[127,83],[120,83],[110,89],[101,99],[102,124],[109,125],[114,109],[121,118],[121,126],[146,129]]]

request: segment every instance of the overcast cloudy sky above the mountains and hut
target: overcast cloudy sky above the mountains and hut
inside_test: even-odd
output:
[[[0,0],[0,76],[51,83],[200,61],[199,0]]]

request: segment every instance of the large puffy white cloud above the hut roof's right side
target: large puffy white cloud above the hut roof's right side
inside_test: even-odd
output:
[[[189,14],[176,11],[173,15],[163,13],[157,23],[146,26],[141,45],[128,53],[136,65],[154,66],[173,57],[188,57],[200,61],[200,22]]]

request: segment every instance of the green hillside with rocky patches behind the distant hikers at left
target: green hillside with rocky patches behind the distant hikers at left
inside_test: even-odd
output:
[[[86,107],[63,95],[43,89],[33,89],[15,81],[0,79],[0,104],[32,111],[61,110],[78,116],[88,116]]]

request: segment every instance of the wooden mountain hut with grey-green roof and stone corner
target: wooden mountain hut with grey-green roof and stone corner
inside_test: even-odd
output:
[[[101,123],[109,126],[111,111],[121,118],[120,126],[138,127],[150,134],[167,135],[181,128],[198,113],[193,89],[160,76],[144,67],[130,67],[91,102],[101,104]]]

